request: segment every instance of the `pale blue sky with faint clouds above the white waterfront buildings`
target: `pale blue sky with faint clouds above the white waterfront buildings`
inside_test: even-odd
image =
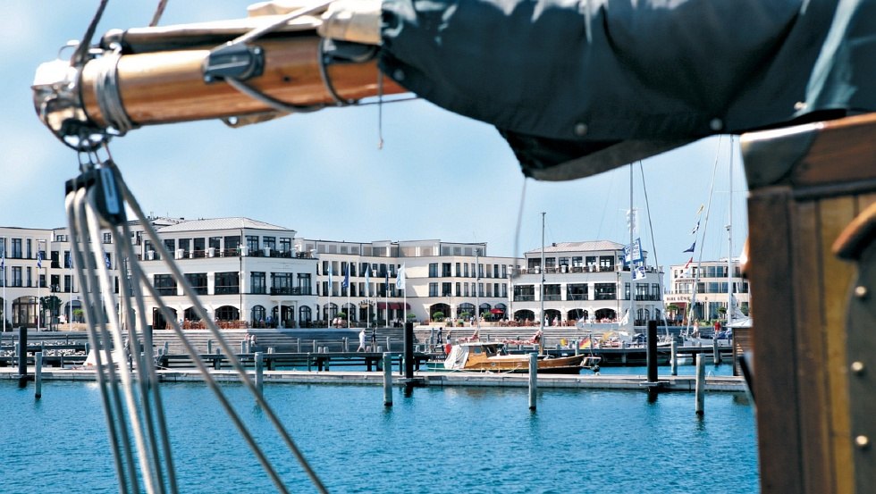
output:
[[[160,25],[240,18],[249,3],[169,0]],[[0,7],[0,225],[64,226],[63,184],[77,174],[77,155],[38,120],[30,85],[39,63],[82,38],[98,4],[4,0]],[[147,26],[157,4],[111,0],[96,38]],[[147,214],[244,216],[306,239],[486,242],[488,255],[522,256],[541,247],[544,213],[547,245],[628,243],[629,166],[567,182],[526,180],[523,195],[519,164],[492,126],[423,100],[383,105],[382,113],[381,121],[377,105],[364,105],[236,130],[221,121],[152,126],[114,138],[110,151]],[[728,255],[730,204],[732,254],[739,254],[747,217],[737,140],[731,147],[728,136],[707,138],[635,164],[636,237],[649,264],[655,254],[663,266],[686,263],[710,190],[695,258]]]

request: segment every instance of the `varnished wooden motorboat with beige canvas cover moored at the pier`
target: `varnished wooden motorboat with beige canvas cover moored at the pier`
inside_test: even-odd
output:
[[[538,373],[577,374],[583,368],[584,355],[539,357]],[[494,341],[467,341],[455,344],[444,360],[448,371],[483,371],[528,373],[529,356],[510,355],[505,345]]]

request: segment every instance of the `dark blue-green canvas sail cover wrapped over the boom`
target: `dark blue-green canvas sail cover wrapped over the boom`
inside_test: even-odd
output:
[[[876,111],[876,0],[384,0],[382,70],[569,180]]]

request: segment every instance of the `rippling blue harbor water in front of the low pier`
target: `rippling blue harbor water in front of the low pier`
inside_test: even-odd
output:
[[[717,368],[716,368],[717,369]],[[661,368],[663,373],[664,368]],[[668,370],[668,369],[667,369]],[[289,490],[314,487],[237,384],[223,390]],[[0,381],[0,492],[117,492],[93,382]],[[200,383],[162,384],[181,492],[274,491]],[[332,492],[755,492],[754,411],[745,395],[515,388],[395,389],[266,384],[265,398]]]

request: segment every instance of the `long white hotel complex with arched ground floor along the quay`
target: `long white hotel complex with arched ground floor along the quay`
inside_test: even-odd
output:
[[[631,280],[623,265],[623,246],[609,241],[569,242],[526,252],[523,259],[489,255],[485,243],[437,239],[346,242],[296,238],[297,232],[248,218],[185,221],[150,218],[162,245],[185,274],[207,316],[236,325],[297,328],[325,325],[350,314],[364,325],[401,322],[405,314],[428,322],[436,312],[454,320],[480,314],[484,320],[573,323],[617,321],[635,305],[637,324],[661,316],[661,272],[649,268],[644,280]],[[164,264],[161,251],[131,222],[140,266],[172,311],[189,327],[198,316]],[[113,259],[114,239],[105,233],[118,291],[126,263]],[[37,251],[43,251],[41,267]],[[67,259],[67,230],[0,227],[5,252],[4,318],[13,326],[34,327],[37,297],[59,301],[49,322],[78,319],[80,292]],[[646,253],[645,253],[646,255]],[[407,294],[396,289],[405,266]],[[329,274],[331,266],[331,276]],[[342,287],[350,273],[350,287]],[[511,275],[518,272],[518,276]],[[540,283],[544,276],[544,314]],[[330,280],[331,278],[331,280]],[[388,283],[387,283],[388,279]],[[512,287],[513,284],[513,287]],[[634,299],[635,297],[635,299]],[[407,303],[407,307],[404,304]],[[167,322],[152,297],[146,320],[156,329]],[[46,327],[42,321],[41,326]]]

